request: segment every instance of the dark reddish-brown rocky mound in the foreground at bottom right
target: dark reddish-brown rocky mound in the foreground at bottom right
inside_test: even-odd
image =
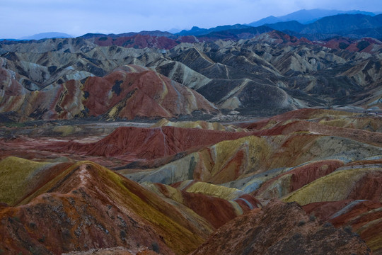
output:
[[[371,254],[352,232],[319,225],[296,203],[273,200],[236,217],[192,254]]]

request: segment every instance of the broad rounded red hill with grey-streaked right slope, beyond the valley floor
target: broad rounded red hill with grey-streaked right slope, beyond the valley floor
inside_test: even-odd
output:
[[[133,72],[118,69],[105,77],[89,77],[83,84],[83,106],[88,115],[109,118],[165,117],[216,108],[192,89],[162,74],[129,66]],[[143,70],[142,70],[143,69]]]

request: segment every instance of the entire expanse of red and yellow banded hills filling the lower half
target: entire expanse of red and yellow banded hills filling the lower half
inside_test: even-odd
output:
[[[378,116],[98,125],[0,129],[1,251],[382,251]]]

